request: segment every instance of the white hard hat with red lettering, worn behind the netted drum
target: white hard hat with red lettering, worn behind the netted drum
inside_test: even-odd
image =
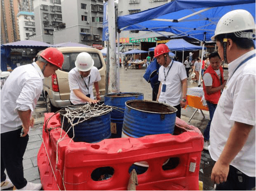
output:
[[[94,65],[94,61],[91,55],[89,55],[87,52],[81,52],[79,55],[77,55],[77,59],[74,64],[78,70],[86,72],[91,70]]]

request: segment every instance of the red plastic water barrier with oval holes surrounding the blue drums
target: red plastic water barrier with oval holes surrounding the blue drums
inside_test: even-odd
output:
[[[52,114],[45,114],[45,121]],[[51,117],[47,126],[44,123],[43,143],[37,155],[43,189],[127,190],[129,167],[135,162],[147,161],[149,168],[138,175],[137,190],[198,190],[203,137],[196,127],[178,118],[176,121],[176,135],[105,139],[99,143],[74,143],[65,136],[58,143],[56,165],[61,123],[58,114]],[[64,134],[63,131],[62,136]],[[179,163],[174,169],[164,171],[163,163],[173,157],[179,158]],[[112,177],[94,181],[93,171],[106,166],[114,168]]]

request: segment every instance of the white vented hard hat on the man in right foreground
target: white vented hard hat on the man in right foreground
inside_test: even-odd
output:
[[[252,32],[242,32],[246,30],[253,30]],[[242,38],[255,38],[255,21],[253,16],[246,10],[237,9],[230,11],[223,15],[211,37],[212,41],[219,34],[235,33],[235,36]]]

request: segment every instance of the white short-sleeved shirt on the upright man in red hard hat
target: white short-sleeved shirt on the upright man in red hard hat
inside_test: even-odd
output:
[[[172,61],[165,68],[165,75],[167,75],[171,63]],[[166,76],[166,80],[163,69],[164,66],[159,68],[158,80],[162,82],[162,86],[158,102],[165,102],[171,106],[179,105],[182,99],[182,80],[187,78],[186,69],[182,63],[173,61],[172,68]],[[163,84],[166,84],[165,92],[162,91]]]

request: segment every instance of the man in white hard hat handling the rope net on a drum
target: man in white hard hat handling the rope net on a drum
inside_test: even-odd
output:
[[[94,61],[87,52],[77,55],[75,68],[68,73],[70,87],[70,101],[72,104],[93,103],[100,100],[99,81],[100,72],[94,65]],[[93,98],[93,85],[96,91],[96,99]]]

